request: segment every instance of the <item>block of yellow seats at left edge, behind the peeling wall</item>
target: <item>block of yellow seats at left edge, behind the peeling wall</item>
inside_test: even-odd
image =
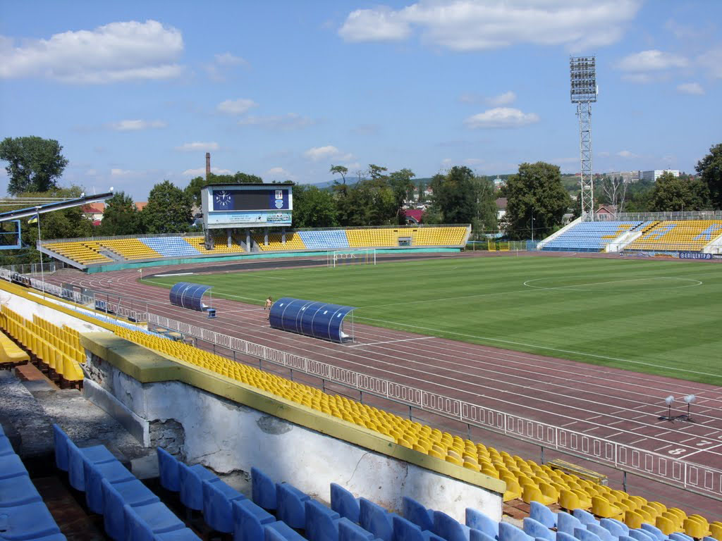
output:
[[[30,360],[61,387],[82,385],[85,351],[77,330],[53,325],[37,314],[31,322],[5,305],[0,307],[0,329],[22,344]]]

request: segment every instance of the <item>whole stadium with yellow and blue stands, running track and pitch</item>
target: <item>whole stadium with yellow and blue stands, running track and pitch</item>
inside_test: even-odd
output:
[[[41,240],[53,263],[0,270],[4,368],[135,442],[55,424],[25,452],[105,535],[722,538],[721,216],[478,250],[466,224],[230,226],[239,208],[206,210],[226,221],[205,236]],[[17,419],[3,505],[53,539]]]

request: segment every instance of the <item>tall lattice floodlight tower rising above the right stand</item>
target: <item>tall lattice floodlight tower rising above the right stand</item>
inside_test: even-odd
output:
[[[582,221],[594,219],[594,177],[591,172],[591,104],[596,102],[596,58],[570,56],[570,97],[577,104],[579,117],[579,154],[581,176],[579,187],[582,203]]]

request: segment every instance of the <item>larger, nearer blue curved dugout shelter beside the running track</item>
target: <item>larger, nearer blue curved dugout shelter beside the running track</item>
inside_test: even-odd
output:
[[[352,338],[343,332],[344,317],[355,307],[304,301],[284,296],[271,307],[269,323],[274,329],[342,343]]]

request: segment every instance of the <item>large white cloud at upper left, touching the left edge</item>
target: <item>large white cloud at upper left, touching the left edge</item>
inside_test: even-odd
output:
[[[170,79],[185,71],[175,63],[181,53],[180,30],[153,20],[111,22],[17,46],[10,38],[0,40],[0,78],[37,76],[77,84]]]

